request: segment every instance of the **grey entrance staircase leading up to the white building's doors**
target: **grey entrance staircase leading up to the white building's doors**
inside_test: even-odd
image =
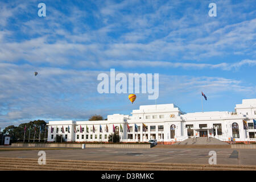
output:
[[[216,138],[212,138],[212,137],[196,137],[196,138],[188,138],[182,142],[177,142],[174,145],[192,145],[192,144],[204,144],[204,145],[208,145],[208,144],[214,144],[214,145],[229,145],[226,142],[222,142],[219,139]]]

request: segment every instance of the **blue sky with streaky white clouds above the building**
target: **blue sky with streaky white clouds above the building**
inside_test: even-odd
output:
[[[155,104],[148,94],[133,105],[129,94],[99,94],[97,76],[110,68],[159,73],[157,103],[187,113],[201,111],[201,91],[205,111],[256,98],[254,1],[1,1],[0,17],[2,129]]]

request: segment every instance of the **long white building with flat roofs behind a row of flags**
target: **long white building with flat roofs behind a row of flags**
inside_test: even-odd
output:
[[[133,110],[131,115],[108,115],[106,121],[49,121],[48,142],[54,142],[57,134],[63,135],[65,142],[108,142],[108,135],[113,134],[114,127],[121,142],[157,139],[172,144],[191,137],[214,137],[225,142],[248,143],[256,141],[253,119],[256,119],[256,99],[242,100],[234,112],[185,114],[174,104],[144,105]],[[244,129],[243,121],[247,122],[247,129]],[[146,131],[143,131],[143,123]]]

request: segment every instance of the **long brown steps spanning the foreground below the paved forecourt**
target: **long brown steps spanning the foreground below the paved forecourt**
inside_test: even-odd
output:
[[[90,170],[125,170],[125,171],[172,171],[172,170],[253,170],[256,166],[229,165],[229,164],[179,164],[179,163],[141,163],[141,162],[110,162],[110,161],[86,161],[47,159],[45,165],[39,165],[38,159],[26,158],[0,158],[0,171],[90,171]]]

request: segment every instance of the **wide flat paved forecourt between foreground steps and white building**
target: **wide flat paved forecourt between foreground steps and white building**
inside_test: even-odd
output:
[[[101,160],[121,162],[208,164],[209,151],[217,152],[217,164],[256,165],[255,150],[202,148],[86,148],[45,150],[46,159]],[[38,150],[0,151],[0,158],[39,158]]]

